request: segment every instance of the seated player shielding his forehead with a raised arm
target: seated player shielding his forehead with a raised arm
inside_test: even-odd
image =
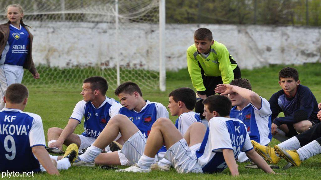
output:
[[[248,79],[234,79],[230,84],[220,84],[215,93],[229,96],[233,108],[231,118],[240,119],[247,127],[251,140],[267,145],[272,139],[270,103],[252,91]],[[244,162],[248,158],[241,152],[238,161]]]

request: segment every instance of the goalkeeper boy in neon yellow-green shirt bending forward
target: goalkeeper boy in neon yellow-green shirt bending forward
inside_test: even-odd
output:
[[[225,45],[214,41],[212,32],[206,28],[194,33],[194,44],[187,49],[187,68],[200,99],[215,94],[218,84],[229,84],[241,78],[241,71]],[[201,113],[204,105],[198,101],[195,112]]]

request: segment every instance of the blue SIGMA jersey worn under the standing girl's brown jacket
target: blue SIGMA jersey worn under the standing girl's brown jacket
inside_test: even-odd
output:
[[[29,53],[29,33],[21,25],[20,29],[14,27],[12,24],[10,24],[9,28],[9,38],[2,52],[0,64],[23,66]]]

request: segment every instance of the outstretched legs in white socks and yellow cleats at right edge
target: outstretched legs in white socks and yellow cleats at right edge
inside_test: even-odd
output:
[[[317,117],[321,121],[321,103],[318,105],[318,108]],[[280,157],[282,157],[294,166],[300,166],[302,161],[321,153],[321,123],[275,145],[274,148],[262,146],[255,141],[252,141],[252,144],[256,152],[264,157],[266,161],[276,164],[281,160]]]

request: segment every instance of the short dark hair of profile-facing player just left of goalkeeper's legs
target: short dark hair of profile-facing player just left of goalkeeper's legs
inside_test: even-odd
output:
[[[188,110],[193,110],[196,104],[196,94],[189,87],[181,87],[169,93],[168,97],[173,97],[175,102],[184,102]]]

